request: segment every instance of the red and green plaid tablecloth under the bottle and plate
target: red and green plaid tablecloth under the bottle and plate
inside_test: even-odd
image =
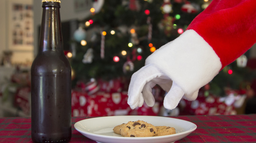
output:
[[[72,117],[70,143],[96,143],[75,130],[77,121],[92,117]],[[256,142],[256,114],[175,116],[170,118],[193,122],[197,129],[175,143],[183,142]],[[30,143],[31,118],[0,118],[0,143]]]

